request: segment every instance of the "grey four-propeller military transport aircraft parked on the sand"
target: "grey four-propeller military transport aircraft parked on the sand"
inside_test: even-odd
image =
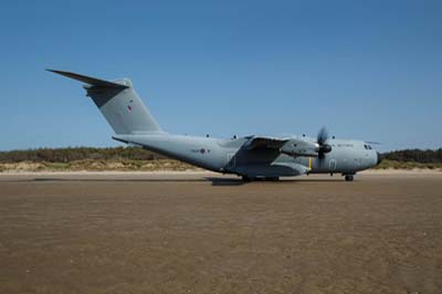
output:
[[[246,136],[228,139],[171,135],[164,132],[135,92],[130,80],[105,81],[48,70],[83,83],[115,132],[113,139],[137,145],[190,165],[241,176],[244,181],[277,180],[309,174],[341,174],[347,181],[357,171],[380,162],[369,143],[329,138],[322,128],[306,136]]]

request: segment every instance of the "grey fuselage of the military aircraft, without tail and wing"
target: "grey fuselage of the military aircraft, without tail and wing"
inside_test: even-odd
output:
[[[303,174],[355,175],[378,162],[375,149],[365,141],[329,139],[332,151],[323,159],[290,156],[277,149],[243,150],[249,137],[219,139],[169,134],[120,135],[114,139],[139,145],[146,149],[185,162],[223,174],[248,177],[284,177]],[[303,140],[315,140],[302,137]],[[288,143],[290,144],[290,143]],[[295,167],[295,168],[294,168]]]

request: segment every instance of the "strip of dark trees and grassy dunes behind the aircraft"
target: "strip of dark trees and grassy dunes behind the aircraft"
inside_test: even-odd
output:
[[[382,154],[382,162],[375,169],[442,170],[442,148],[436,150],[396,150]],[[75,147],[0,151],[0,172],[191,169],[198,168],[138,147]]]

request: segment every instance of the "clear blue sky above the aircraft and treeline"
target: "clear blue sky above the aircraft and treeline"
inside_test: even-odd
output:
[[[81,84],[130,77],[169,133],[442,146],[441,1],[7,1],[0,149],[116,146]]]

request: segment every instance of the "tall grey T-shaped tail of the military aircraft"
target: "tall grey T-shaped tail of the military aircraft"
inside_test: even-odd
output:
[[[84,83],[95,105],[99,108],[115,134],[162,132],[139,98],[128,78],[113,82],[71,72],[48,70]]]

